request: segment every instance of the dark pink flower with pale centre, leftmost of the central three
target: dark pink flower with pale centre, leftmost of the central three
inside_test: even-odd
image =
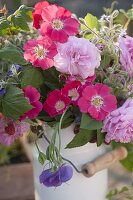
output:
[[[51,116],[62,114],[71,103],[71,100],[64,96],[60,90],[54,90],[49,93],[45,103],[44,110]]]

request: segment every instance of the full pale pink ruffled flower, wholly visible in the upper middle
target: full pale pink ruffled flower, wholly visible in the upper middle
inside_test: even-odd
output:
[[[86,79],[100,66],[99,50],[85,38],[69,37],[68,42],[59,44],[57,50],[54,65],[59,72]]]

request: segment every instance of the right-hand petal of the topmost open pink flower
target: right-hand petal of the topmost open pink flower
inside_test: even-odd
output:
[[[64,31],[68,35],[76,35],[79,29],[79,22],[76,19],[68,18],[64,21]]]

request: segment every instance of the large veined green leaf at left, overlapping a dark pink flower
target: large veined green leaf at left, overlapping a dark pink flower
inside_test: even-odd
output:
[[[20,116],[32,109],[21,89],[11,86],[2,99],[2,110],[6,117],[18,120]]]

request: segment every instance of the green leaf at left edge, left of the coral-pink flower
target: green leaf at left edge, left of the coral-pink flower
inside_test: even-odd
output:
[[[18,47],[8,44],[7,46],[0,49],[0,59],[9,61],[10,63],[17,63],[25,65],[26,61],[23,58],[23,53]]]

